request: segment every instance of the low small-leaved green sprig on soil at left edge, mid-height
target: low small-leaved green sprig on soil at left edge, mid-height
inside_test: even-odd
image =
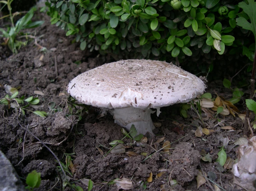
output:
[[[20,98],[17,98],[19,92],[17,89],[12,88],[14,91],[10,92],[12,93],[11,96],[8,94],[5,96],[5,98],[0,98],[0,104],[8,105],[8,108],[18,108],[19,111],[25,115],[25,111],[32,112],[36,115],[39,115],[40,117],[45,117],[47,115],[46,112],[44,111],[32,111],[30,109],[27,109],[31,105],[36,105],[40,102],[40,100],[36,97],[34,98],[33,96],[30,96],[25,99],[25,96],[22,96]],[[24,102],[26,105],[23,105]],[[21,105],[22,104],[22,105]]]

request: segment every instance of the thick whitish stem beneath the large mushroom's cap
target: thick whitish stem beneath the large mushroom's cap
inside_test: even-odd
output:
[[[115,123],[125,127],[126,130],[130,131],[132,125],[135,126],[138,134],[146,134],[152,132],[155,126],[151,120],[151,113],[154,113],[151,109],[140,109],[140,108],[122,108],[114,109],[113,118]]]

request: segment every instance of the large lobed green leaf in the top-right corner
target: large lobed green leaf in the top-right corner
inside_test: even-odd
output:
[[[243,29],[252,31],[254,37],[256,37],[256,2],[254,0],[248,0],[248,4],[246,4],[246,2],[239,2],[238,7],[242,8],[249,16],[251,23],[249,23],[244,17],[239,17],[236,19],[237,25]]]

